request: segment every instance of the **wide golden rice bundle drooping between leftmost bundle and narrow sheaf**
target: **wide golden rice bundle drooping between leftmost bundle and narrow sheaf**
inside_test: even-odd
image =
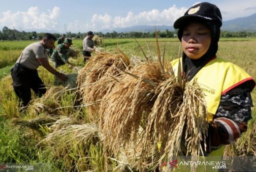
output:
[[[147,116],[154,105],[154,86],[144,78],[160,83],[162,78],[157,63],[142,63],[120,78],[111,92],[106,94],[100,107],[100,130],[104,143],[114,152],[128,141],[136,141],[143,114]]]

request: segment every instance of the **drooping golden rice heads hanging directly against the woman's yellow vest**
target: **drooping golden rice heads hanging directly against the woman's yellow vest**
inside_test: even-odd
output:
[[[186,83],[182,95],[182,99],[179,99],[181,100],[178,104],[179,108],[169,116],[170,127],[160,127],[163,130],[162,133],[166,135],[153,134],[154,139],[162,143],[159,164],[166,158],[176,158],[181,152],[186,156],[191,156],[192,161],[197,161],[202,150],[201,143],[206,143],[208,122],[202,89],[195,81]],[[161,117],[159,120],[161,121]],[[158,130],[157,125],[155,125],[155,130]],[[170,170],[172,167],[167,164],[165,171]],[[191,170],[195,171],[196,165],[192,164]]]

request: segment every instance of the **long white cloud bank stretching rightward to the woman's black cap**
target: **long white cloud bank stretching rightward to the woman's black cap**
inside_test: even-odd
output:
[[[171,26],[176,19],[182,16],[186,12],[187,8],[177,8],[176,5],[164,9],[162,11],[158,9],[152,9],[150,11],[143,11],[138,14],[128,12],[127,16],[110,16],[105,13],[94,14],[91,19],[91,23],[84,24],[80,31],[95,30],[99,31],[102,29],[114,29],[114,28],[126,28],[136,25],[168,25]],[[69,30],[77,30],[79,22],[71,22],[68,24]],[[80,22],[81,23],[81,22]],[[86,30],[85,30],[86,28]]]

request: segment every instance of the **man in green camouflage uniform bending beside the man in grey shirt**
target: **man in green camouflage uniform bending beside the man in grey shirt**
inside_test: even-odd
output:
[[[70,50],[70,46],[72,45],[72,39],[65,38],[64,43],[57,45],[52,54],[52,61],[54,63],[54,67],[59,67],[68,64],[70,68],[72,68],[72,64],[68,61],[68,50]]]

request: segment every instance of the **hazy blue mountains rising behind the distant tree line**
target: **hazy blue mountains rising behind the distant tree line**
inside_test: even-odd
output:
[[[161,26],[156,26],[157,30],[164,31],[168,29],[169,31],[173,31],[174,28],[173,26],[166,26],[166,25],[161,25]],[[228,21],[223,21],[223,25],[221,30],[226,30],[226,31],[256,31],[256,13],[247,16],[247,17],[241,17],[241,18],[236,18],[233,20],[228,20]],[[131,31],[136,31],[136,32],[153,32],[155,31],[155,26],[147,26],[147,25],[139,25],[139,26],[132,26],[128,28],[116,28],[116,29],[104,29],[101,30],[103,33],[106,32],[131,32]]]

